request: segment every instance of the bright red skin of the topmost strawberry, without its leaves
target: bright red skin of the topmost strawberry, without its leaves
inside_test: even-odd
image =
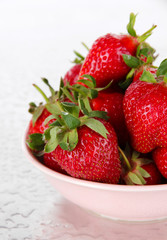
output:
[[[122,54],[135,55],[138,42],[128,35],[106,34],[98,38],[82,65],[79,78],[83,74],[92,75],[97,87],[106,86],[111,80],[125,79],[130,68],[125,64]]]

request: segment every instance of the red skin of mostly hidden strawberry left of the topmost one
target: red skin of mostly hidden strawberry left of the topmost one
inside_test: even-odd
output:
[[[74,85],[77,83],[81,66],[82,64],[75,64],[72,68],[68,70],[63,79],[64,85],[66,85],[67,82],[69,82],[70,85]]]

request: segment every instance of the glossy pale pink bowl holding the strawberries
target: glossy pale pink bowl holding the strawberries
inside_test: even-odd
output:
[[[167,184],[126,186],[76,179],[44,166],[29,151],[25,138],[23,150],[53,187],[84,209],[122,221],[154,221],[167,218]]]

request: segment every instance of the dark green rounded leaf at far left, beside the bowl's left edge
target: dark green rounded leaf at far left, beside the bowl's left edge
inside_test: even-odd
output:
[[[33,133],[28,136],[27,144],[29,148],[36,151],[42,151],[44,149],[44,139],[43,134],[41,133]]]

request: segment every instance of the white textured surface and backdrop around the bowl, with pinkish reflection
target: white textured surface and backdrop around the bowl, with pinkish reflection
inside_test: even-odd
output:
[[[138,13],[141,34],[167,57],[166,0],[0,0],[0,239],[166,240],[167,222],[130,225],[91,216],[63,199],[25,159],[22,136],[28,103],[41,101],[32,87],[46,77],[56,88],[73,50],[86,54],[100,35],[126,32]]]

